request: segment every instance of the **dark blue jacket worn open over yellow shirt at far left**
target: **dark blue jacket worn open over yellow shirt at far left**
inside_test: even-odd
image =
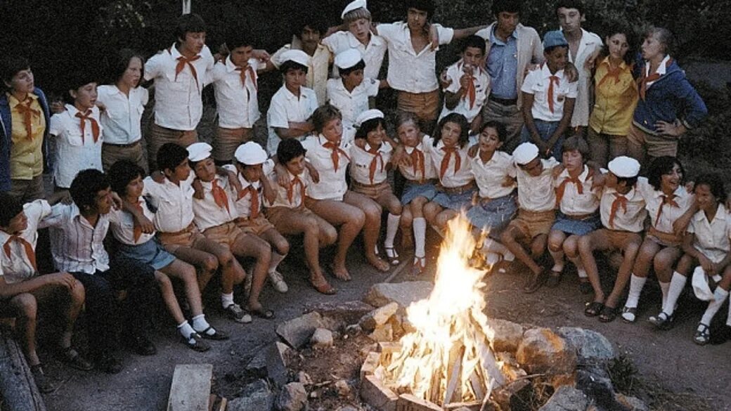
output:
[[[50,128],[50,110],[48,99],[40,88],[34,88],[33,94],[38,96],[38,102],[43,110],[46,127],[43,133],[44,167],[48,169],[48,129]],[[12,114],[7,94],[0,94],[0,192],[10,191],[10,146],[12,146]]]

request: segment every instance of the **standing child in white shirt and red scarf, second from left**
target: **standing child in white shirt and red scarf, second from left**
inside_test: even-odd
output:
[[[96,107],[96,81],[77,73],[69,84],[72,104],[50,118],[49,133],[56,139],[53,182],[68,189],[81,170],[102,170],[102,124]]]

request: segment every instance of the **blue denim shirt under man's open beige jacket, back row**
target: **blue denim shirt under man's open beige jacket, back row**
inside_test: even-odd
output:
[[[518,75],[518,31],[515,30],[507,38],[507,42],[495,36],[495,29],[490,33],[490,54],[485,69],[491,81],[490,94],[499,99],[518,98],[515,76]]]

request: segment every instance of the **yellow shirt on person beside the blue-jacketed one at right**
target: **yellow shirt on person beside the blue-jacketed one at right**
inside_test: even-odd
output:
[[[632,68],[624,61],[619,65],[616,77],[609,74],[609,68],[609,57],[596,67],[596,101],[589,127],[599,133],[627,135],[637,105],[637,83],[632,78]]]

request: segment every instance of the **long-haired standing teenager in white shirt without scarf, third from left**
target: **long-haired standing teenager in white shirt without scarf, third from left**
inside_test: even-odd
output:
[[[114,83],[97,88],[96,105],[102,108],[104,127],[102,166],[105,171],[123,159],[147,169],[140,143],[140,122],[148,102],[147,88],[140,87],[144,61],[134,50],[119,50],[113,61]]]

